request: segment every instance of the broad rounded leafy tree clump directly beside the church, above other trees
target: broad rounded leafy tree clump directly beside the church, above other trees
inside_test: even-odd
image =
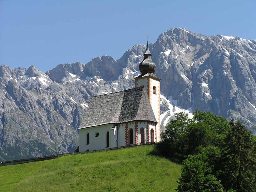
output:
[[[199,146],[220,145],[230,130],[228,121],[209,112],[197,110],[193,114],[193,119],[186,113],[178,113],[174,120],[170,120],[156,146],[158,154],[182,162]]]

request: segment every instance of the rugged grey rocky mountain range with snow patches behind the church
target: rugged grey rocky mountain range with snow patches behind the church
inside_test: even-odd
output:
[[[145,48],[46,73],[0,66],[0,161],[73,152],[90,98],[133,88]],[[149,48],[162,79],[162,130],[175,113],[200,109],[241,119],[256,133],[256,40],[173,28]]]

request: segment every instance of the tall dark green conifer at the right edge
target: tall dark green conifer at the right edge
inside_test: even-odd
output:
[[[219,164],[222,184],[237,192],[256,191],[253,137],[239,120],[231,120],[229,123],[231,130],[224,140]]]

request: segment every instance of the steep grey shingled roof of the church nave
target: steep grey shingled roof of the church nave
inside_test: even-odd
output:
[[[78,129],[135,120],[157,123],[144,87],[92,97]]]

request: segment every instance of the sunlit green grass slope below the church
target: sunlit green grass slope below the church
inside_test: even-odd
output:
[[[0,191],[175,191],[180,165],[154,146],[62,156],[0,167]]]

